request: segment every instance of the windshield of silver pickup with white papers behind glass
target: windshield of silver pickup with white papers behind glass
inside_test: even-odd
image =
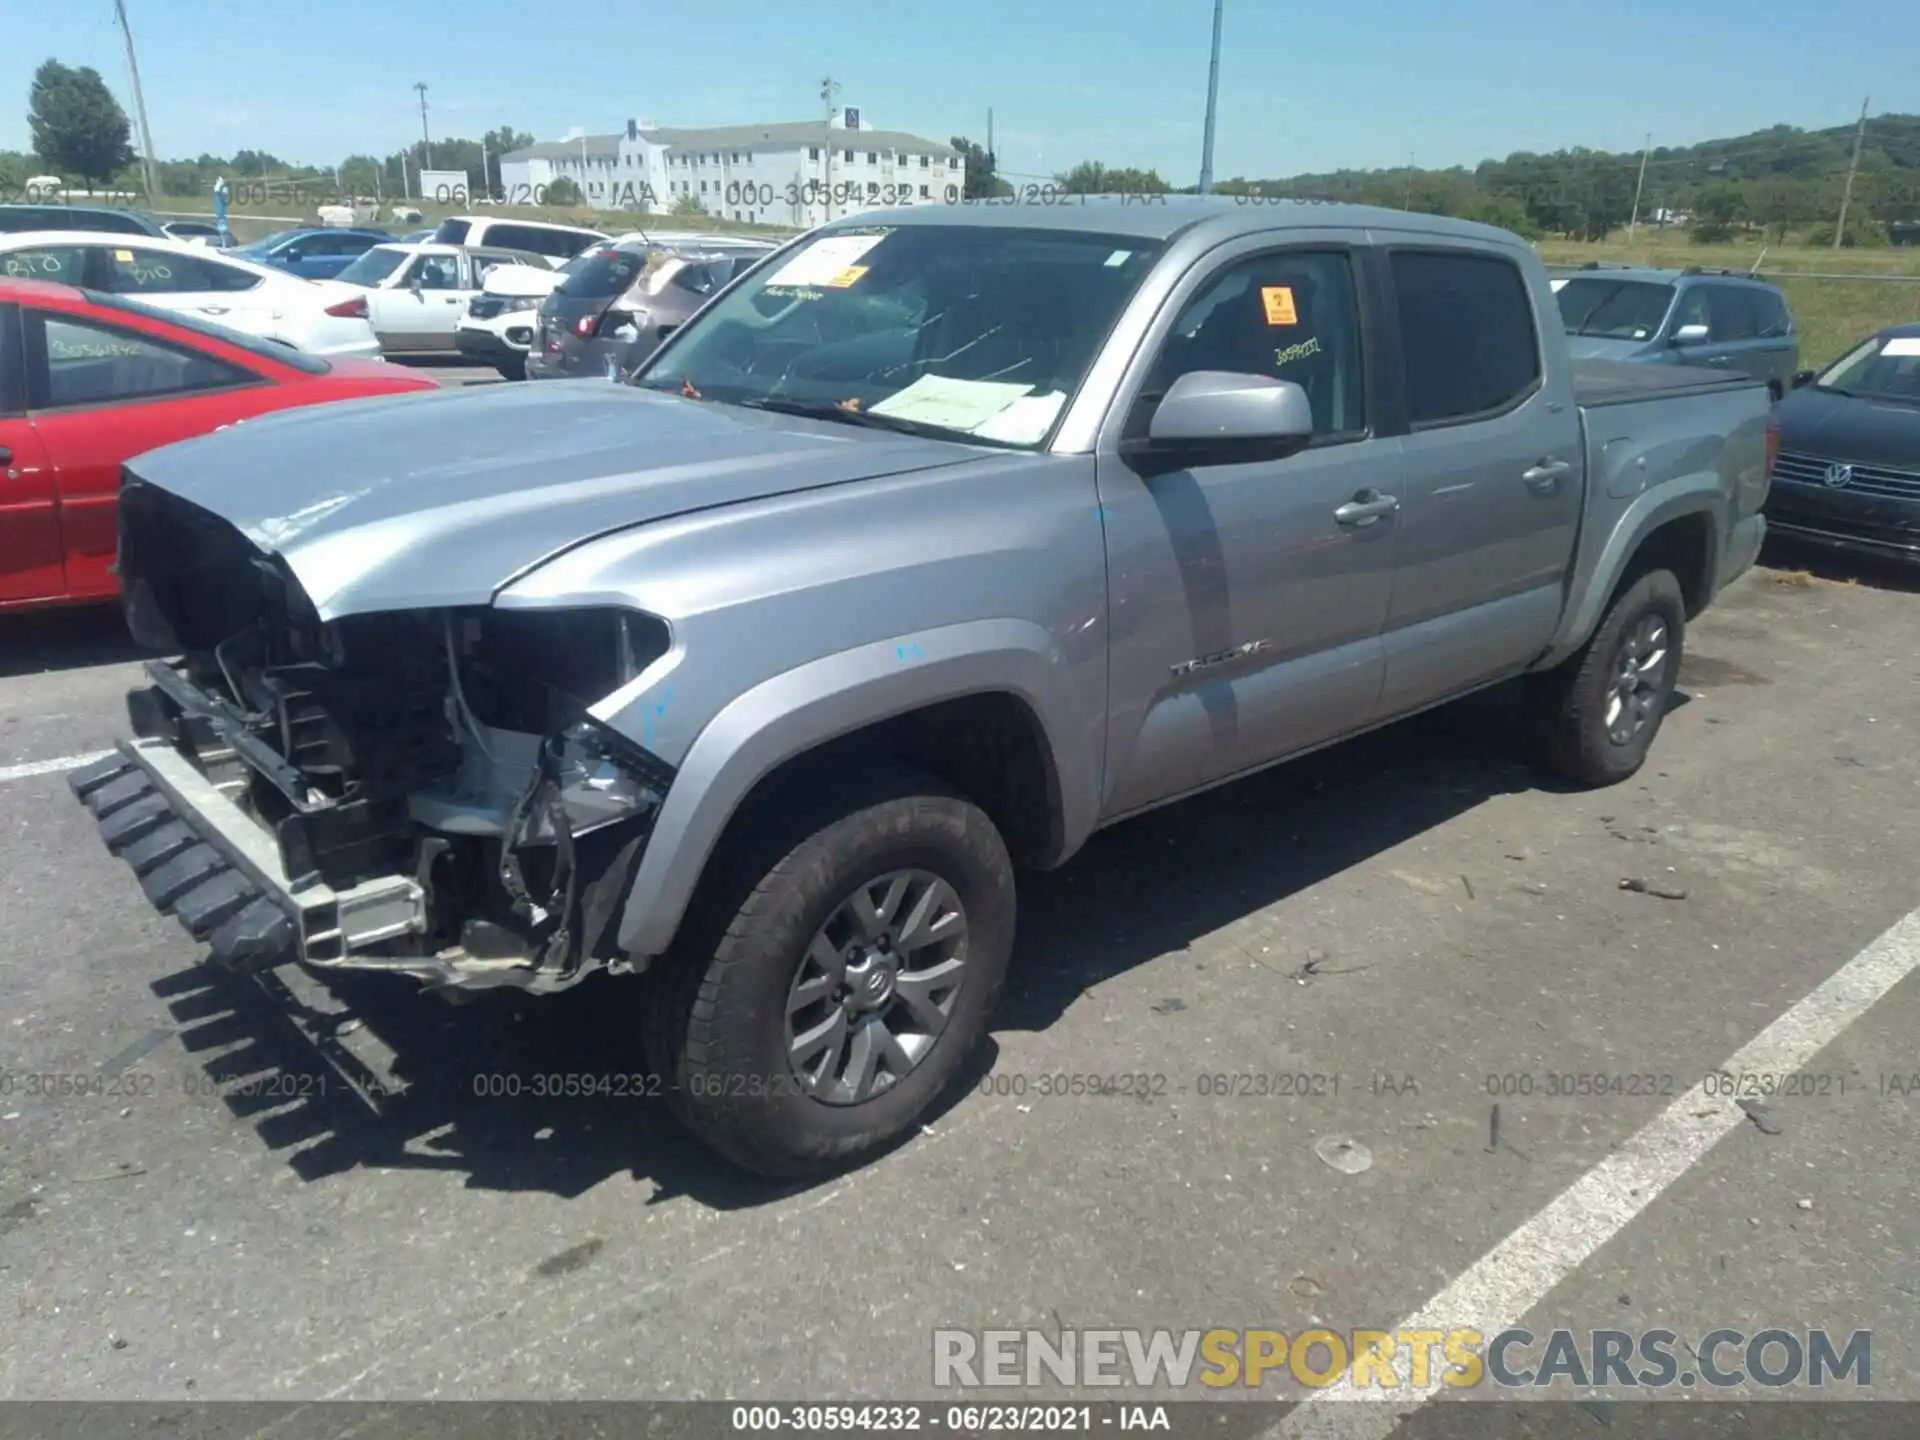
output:
[[[1039,447],[1158,257],[1079,230],[835,227],[758,265],[632,384]]]

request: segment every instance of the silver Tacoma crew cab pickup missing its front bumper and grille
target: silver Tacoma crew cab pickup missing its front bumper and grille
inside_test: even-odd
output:
[[[812,230],[626,384],[134,459],[134,739],[75,774],[211,962],[636,975],[768,1173],[904,1133],[1016,868],[1523,680],[1605,785],[1755,557],[1766,390],[1567,359],[1515,236],[1221,198]]]

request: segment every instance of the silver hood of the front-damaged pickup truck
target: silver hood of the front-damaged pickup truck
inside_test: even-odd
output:
[[[612,530],[979,453],[607,380],[545,380],[276,411],[127,468],[282,557],[334,620],[484,605]]]

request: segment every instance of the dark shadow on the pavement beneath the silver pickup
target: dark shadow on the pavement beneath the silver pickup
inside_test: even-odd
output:
[[[1496,795],[1557,787],[1515,758],[1517,726],[1511,687],[1490,691],[1117,826],[1060,872],[1027,876],[996,1029],[1044,1029],[1091,985]],[[323,983],[298,968],[248,981],[194,966],[154,989],[207,1089],[303,1179],[442,1169],[470,1188],[576,1196],[632,1173],[655,1181],[655,1202],[722,1210],[806,1188],[745,1177],[678,1129],[643,1073],[643,995],[626,977],[463,1006],[405,979]],[[983,1044],[925,1123],[968,1098],[995,1054]],[[374,1100],[342,1075],[371,1081]]]

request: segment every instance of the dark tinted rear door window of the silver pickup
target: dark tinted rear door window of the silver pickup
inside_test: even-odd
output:
[[[1517,265],[1396,250],[1392,271],[1415,426],[1494,415],[1538,388],[1540,340]]]

